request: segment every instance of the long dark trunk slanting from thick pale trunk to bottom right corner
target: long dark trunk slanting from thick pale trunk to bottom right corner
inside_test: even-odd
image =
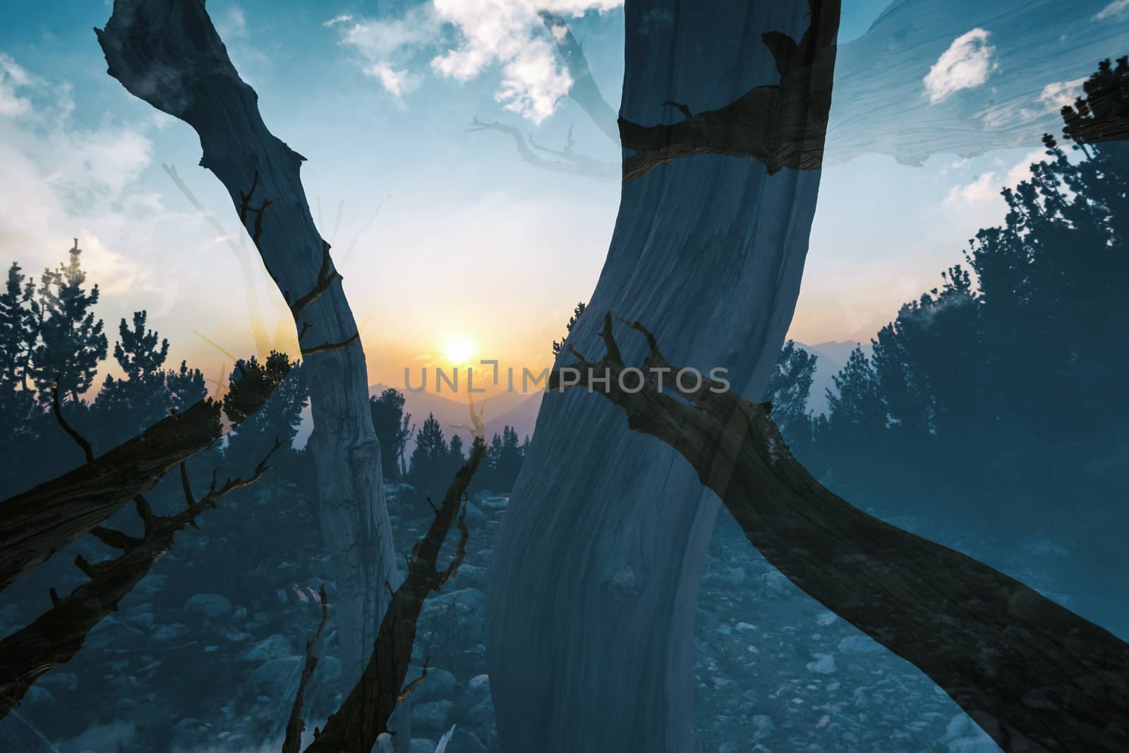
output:
[[[641,369],[624,365],[606,315],[604,357],[593,363],[571,349],[578,363],[566,369],[575,371],[555,371],[550,389],[599,391],[631,429],[677,450],[765,559],[921,670],[1005,751],[1129,750],[1129,645],[1018,581],[851,506],[791,455],[769,404],[671,365],[654,336],[631,326],[649,345]]]

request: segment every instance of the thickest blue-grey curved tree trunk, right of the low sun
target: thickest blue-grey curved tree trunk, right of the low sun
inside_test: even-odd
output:
[[[727,367],[753,399],[799,290],[838,5],[625,5],[621,134],[636,151],[587,311],[655,322],[688,365]],[[636,125],[658,123],[666,135]],[[598,352],[598,327],[586,315],[568,342]],[[694,603],[717,511],[613,406],[545,396],[487,594],[505,750],[698,750]]]

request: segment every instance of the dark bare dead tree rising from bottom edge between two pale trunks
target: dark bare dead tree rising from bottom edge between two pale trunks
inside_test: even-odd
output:
[[[450,581],[466,559],[466,540],[470,537],[466,529],[466,488],[485,455],[485,442],[475,437],[470,458],[455,473],[427,533],[415,542],[408,556],[408,577],[394,592],[391,584],[385,584],[392,592],[392,601],[380,621],[365,672],[341,708],[326,720],[325,728],[314,729],[314,742],[306,747],[306,753],[369,753],[376,738],[390,732],[388,719],[396,705],[406,701],[427,677],[425,661],[420,676],[405,682],[417,623],[427,597]],[[439,551],[453,525],[458,528],[458,544],[450,562],[440,569]],[[312,647],[307,647],[307,657],[312,650]],[[300,693],[299,688],[296,709],[300,703]],[[291,750],[285,748],[283,753],[291,753]]]

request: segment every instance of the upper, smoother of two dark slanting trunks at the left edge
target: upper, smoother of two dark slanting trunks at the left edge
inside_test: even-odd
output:
[[[222,402],[201,400],[97,458],[84,448],[91,458],[85,464],[0,502],[0,591],[211,446],[224,434],[225,410],[235,420],[259,410],[289,370],[285,356],[269,358],[247,370]],[[59,416],[58,402],[54,409]]]

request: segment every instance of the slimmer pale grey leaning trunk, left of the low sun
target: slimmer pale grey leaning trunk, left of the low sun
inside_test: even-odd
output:
[[[275,138],[203,0],[114,0],[97,30],[110,74],[200,135],[298,328],[308,376],[322,535],[336,573],[344,681],[359,675],[399,582],[357,324],[309,213],[304,158]],[[348,685],[347,685],[348,686]]]

